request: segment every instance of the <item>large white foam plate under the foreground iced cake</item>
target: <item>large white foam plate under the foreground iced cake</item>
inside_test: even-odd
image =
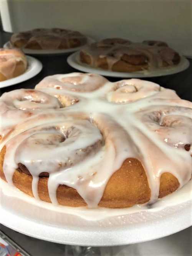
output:
[[[192,225],[192,181],[151,209],[134,206],[85,210],[35,200],[0,179],[0,223],[28,236],[61,244],[140,243]]]

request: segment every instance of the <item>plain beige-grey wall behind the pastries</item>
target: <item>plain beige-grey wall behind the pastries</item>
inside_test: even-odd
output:
[[[8,32],[63,27],[96,39],[164,40],[192,54],[191,0],[0,0],[0,8]]]

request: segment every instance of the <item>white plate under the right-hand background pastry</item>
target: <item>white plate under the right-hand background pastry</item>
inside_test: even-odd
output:
[[[165,76],[172,75],[175,73],[179,73],[185,69],[187,69],[190,65],[189,61],[181,56],[181,60],[179,65],[169,67],[169,68],[159,68],[158,70],[151,71],[138,71],[138,72],[116,72],[110,70],[103,70],[101,68],[93,68],[85,63],[80,62],[79,60],[79,52],[72,53],[68,58],[67,62],[73,68],[76,68],[80,71],[88,72],[88,73],[96,73],[103,76],[113,76],[113,77],[124,77],[124,78],[145,78],[145,77],[154,77],[154,76]]]

